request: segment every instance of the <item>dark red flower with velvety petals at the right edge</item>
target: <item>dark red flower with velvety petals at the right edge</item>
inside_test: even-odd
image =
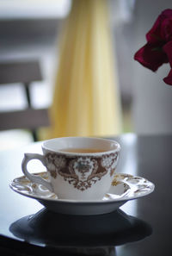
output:
[[[172,68],[172,9],[165,9],[151,30],[146,34],[147,43],[134,55],[134,59],[156,72],[163,63],[168,63]],[[166,84],[172,85],[172,70],[166,78]]]

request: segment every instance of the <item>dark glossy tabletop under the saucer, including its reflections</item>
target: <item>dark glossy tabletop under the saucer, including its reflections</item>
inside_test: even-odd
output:
[[[0,152],[1,255],[171,255],[172,135],[126,134],[117,172],[149,179],[153,193],[106,215],[62,215],[9,188],[22,176],[23,153],[41,143]],[[34,171],[41,172],[40,163]]]

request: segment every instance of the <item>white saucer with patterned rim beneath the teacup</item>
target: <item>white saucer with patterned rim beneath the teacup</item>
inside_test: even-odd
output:
[[[34,173],[48,179],[47,172]],[[146,178],[117,173],[105,197],[94,201],[59,199],[43,185],[32,183],[26,176],[15,178],[9,184],[12,190],[22,196],[31,197],[43,204],[46,209],[68,215],[100,215],[119,209],[129,200],[149,195],[155,185]]]

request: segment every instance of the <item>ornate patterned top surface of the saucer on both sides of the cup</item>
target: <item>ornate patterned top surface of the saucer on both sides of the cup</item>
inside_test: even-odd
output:
[[[48,180],[47,172],[34,173],[41,178]],[[127,181],[126,181],[127,180]],[[131,183],[131,181],[137,180],[138,183]],[[15,178],[10,184],[10,187],[16,192],[22,194],[23,196],[33,197],[46,200],[58,200],[58,196],[47,190],[44,186],[40,184],[32,183],[26,176]],[[130,174],[118,173],[114,176],[114,181],[109,192],[103,198],[102,202],[105,200],[121,200],[122,198],[130,200],[131,198],[138,198],[146,196],[151,193],[154,189],[154,184],[145,178],[132,176]]]

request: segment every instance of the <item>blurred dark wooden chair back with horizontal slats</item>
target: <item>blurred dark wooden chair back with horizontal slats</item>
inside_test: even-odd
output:
[[[28,108],[0,112],[0,130],[28,129],[34,141],[38,140],[37,129],[50,125],[48,109],[34,109],[31,104],[30,84],[41,81],[40,65],[37,60],[0,63],[0,85],[22,83],[25,88]]]

